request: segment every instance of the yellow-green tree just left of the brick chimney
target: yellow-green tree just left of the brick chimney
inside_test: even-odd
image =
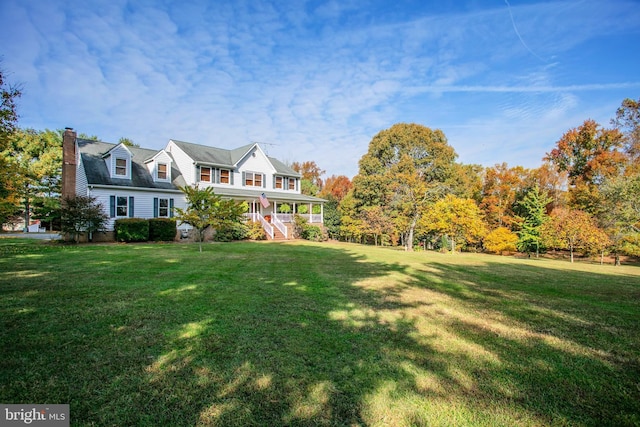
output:
[[[0,153],[14,174],[13,191],[23,204],[25,227],[29,225],[34,199],[58,197],[62,173],[62,132],[18,130]]]

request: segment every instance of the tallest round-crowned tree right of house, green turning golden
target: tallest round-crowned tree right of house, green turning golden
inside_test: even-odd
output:
[[[399,123],[369,143],[353,179],[356,208],[380,206],[396,218],[408,250],[422,213],[446,193],[456,153],[444,133],[418,124]]]

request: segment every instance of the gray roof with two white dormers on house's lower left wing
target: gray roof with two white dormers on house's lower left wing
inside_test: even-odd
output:
[[[131,179],[112,178],[103,156],[113,150],[119,144],[93,141],[90,139],[77,139],[78,151],[82,156],[82,164],[87,175],[89,185],[117,185],[122,187],[156,188],[164,190],[179,190],[186,185],[182,172],[172,162],[172,182],[156,182],[145,166],[144,162],[158,151],[139,147],[127,147],[133,158],[131,159]],[[170,153],[167,153],[171,155]]]

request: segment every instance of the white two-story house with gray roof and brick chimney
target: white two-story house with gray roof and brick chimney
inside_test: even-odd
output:
[[[300,174],[255,143],[226,150],[170,140],[150,150],[78,139],[67,128],[62,172],[63,197],[95,197],[109,214],[110,231],[119,218],[172,217],[176,207],[186,207],[185,185],[247,202],[248,218],[261,222],[271,239],[291,238],[293,213],[323,223],[325,200],[301,194]]]

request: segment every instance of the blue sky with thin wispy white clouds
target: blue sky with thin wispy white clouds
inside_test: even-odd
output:
[[[353,177],[380,130],[537,167],[640,98],[640,2],[2,0],[19,125],[223,148]]]

